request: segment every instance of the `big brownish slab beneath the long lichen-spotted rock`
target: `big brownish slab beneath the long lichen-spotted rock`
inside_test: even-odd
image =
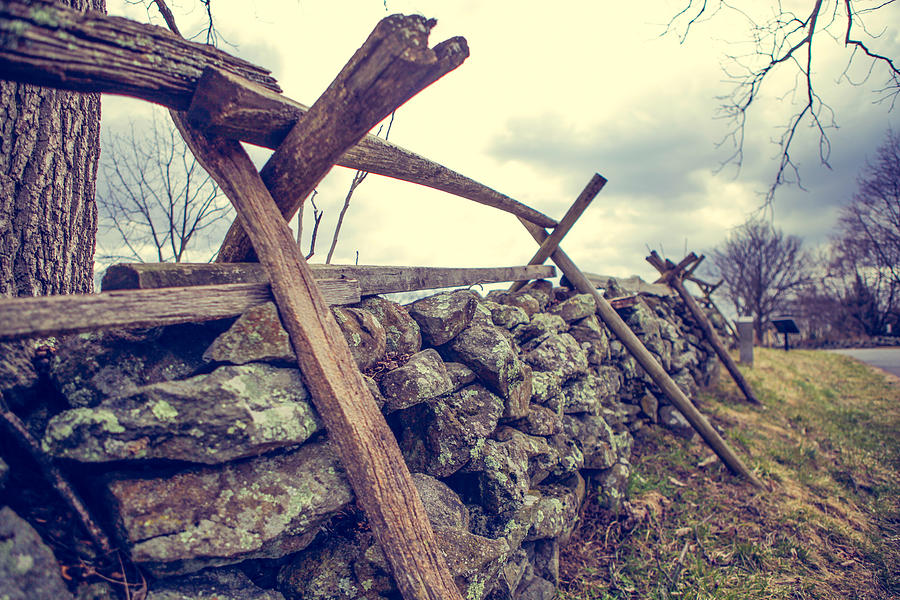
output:
[[[353,500],[323,443],[169,476],[113,477],[107,496],[132,559],[155,576],[297,552]]]

